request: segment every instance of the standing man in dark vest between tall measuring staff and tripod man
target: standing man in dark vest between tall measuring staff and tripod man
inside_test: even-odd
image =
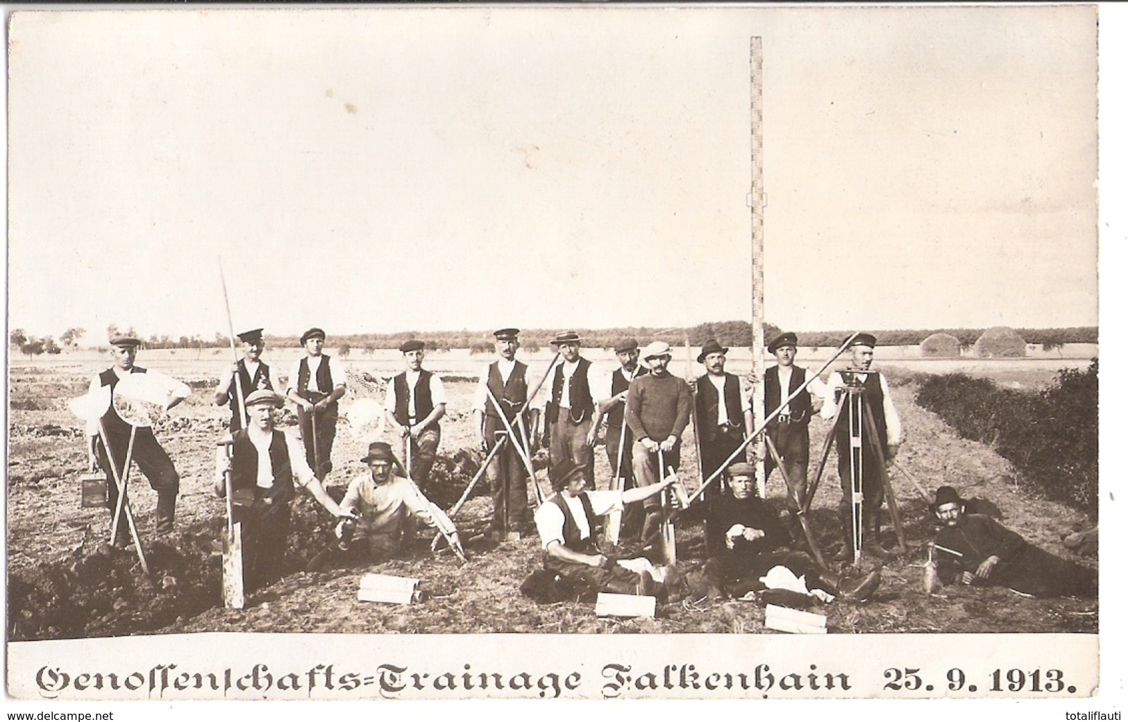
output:
[[[807,498],[807,465],[811,457],[811,437],[808,426],[811,415],[822,408],[822,396],[826,384],[802,366],[795,366],[795,350],[799,337],[792,332],[781,333],[768,344],[768,353],[776,357],[776,365],[764,372],[764,409],[765,415],[779,408],[779,403],[795,393],[810,378],[805,389],[799,392],[783,410],[773,419],[768,419],[765,434],[783,461],[782,473],[786,474],[795,489],[797,503]],[[765,479],[775,470],[775,457],[768,453],[764,456]],[[787,490],[784,490],[787,511],[790,514],[790,532],[792,538],[803,538],[799,525],[799,507]]]

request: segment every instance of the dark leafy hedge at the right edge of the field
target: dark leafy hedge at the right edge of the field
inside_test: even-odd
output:
[[[1096,518],[1098,363],[1064,368],[1039,392],[1002,389],[967,374],[929,376],[917,403],[964,438],[988,444],[1023,483]]]

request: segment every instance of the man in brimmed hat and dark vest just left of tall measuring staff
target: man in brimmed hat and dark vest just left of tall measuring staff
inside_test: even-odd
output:
[[[697,434],[700,436],[702,474],[713,475],[729,456],[752,433],[752,407],[740,377],[724,371],[728,348],[716,339],[702,347],[697,363],[705,365],[705,375],[697,378]],[[735,458],[734,462],[743,461]],[[715,483],[705,496],[719,493],[722,482]]]

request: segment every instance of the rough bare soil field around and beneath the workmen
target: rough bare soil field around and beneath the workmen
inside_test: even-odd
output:
[[[374,567],[331,567],[306,572],[306,561],[325,543],[332,522],[308,496],[296,505],[287,556],[288,572],[253,594],[246,609],[223,609],[220,598],[219,542],[223,503],[211,493],[215,442],[226,431],[226,409],[211,404],[212,387],[226,365],[221,357],[191,355],[153,358],[142,351],[139,364],[159,367],[187,382],[193,395],[156,426],[157,437],[182,476],[176,532],[157,540],[152,534],[156,494],[134,471],[131,500],[151,567],[146,578],[132,550],[108,546],[108,515],[79,506],[78,475],[85,471],[81,424],[65,401],[86,391],[90,375],[106,362],[90,358],[54,359],[50,364],[17,362],[10,368],[9,447],[7,476],[8,633],[11,640],[72,639],[136,633],[203,631],[350,632],[350,633],[479,633],[479,632],[744,632],[764,631],[764,609],[750,603],[681,599],[660,605],[653,620],[598,618],[593,605],[538,605],[520,595],[520,582],[540,565],[535,536],[496,545],[482,536],[491,511],[488,497],[476,494],[456,517],[462,529],[469,562],[460,564],[449,552],[432,554],[425,543]],[[153,354],[157,354],[153,351]],[[267,351],[270,355],[271,351]],[[187,356],[187,357],[186,357]],[[38,359],[36,359],[38,360]],[[475,359],[477,365],[486,358]],[[1042,359],[1039,359],[1042,360]],[[287,364],[274,362],[285,373]],[[546,362],[534,362],[544,369]],[[954,362],[953,362],[954,363]],[[1006,378],[1022,385],[1045,383],[1047,373],[1024,368],[1029,362],[1007,362]],[[813,364],[812,364],[813,365]],[[900,364],[898,364],[900,365]],[[905,364],[906,366],[910,364]],[[1075,365],[1064,362],[1061,366]],[[396,371],[388,359],[354,356],[355,377],[342,410],[347,416],[355,398],[382,400],[384,377]],[[442,372],[449,396],[440,461],[433,480],[433,500],[449,507],[476,471],[481,454],[474,448],[469,399],[470,367],[432,365]],[[466,368],[464,368],[466,366]],[[734,364],[732,371],[743,371]],[[1033,365],[1032,365],[1033,366]],[[1002,365],[998,369],[1004,369]],[[681,365],[676,364],[676,373]],[[887,366],[893,399],[906,428],[899,461],[929,491],[955,485],[966,498],[994,501],[1004,523],[1031,542],[1081,563],[1060,543],[1061,535],[1091,523],[1067,507],[1031,497],[1015,480],[1007,462],[990,448],[960,439],[942,421],[914,403],[913,374]],[[948,369],[945,369],[948,371]],[[700,369],[698,367],[698,373]],[[1052,374],[1049,374],[1050,376]],[[365,381],[367,380],[367,381]],[[292,417],[287,412],[285,419]],[[812,454],[821,447],[823,422],[811,425]],[[327,480],[331,493],[363,470],[358,461],[373,438],[338,426],[333,449],[335,471]],[[696,485],[691,438],[684,446],[681,475],[690,491]],[[544,452],[538,455],[540,465]],[[602,440],[596,449],[597,481],[610,476]],[[545,474],[539,472],[541,480]],[[1098,604],[1092,600],[1024,597],[1005,589],[946,587],[928,596],[922,589],[924,545],[934,529],[925,501],[900,472],[892,483],[906,523],[909,553],[888,562],[883,582],[866,604],[835,603],[820,607],[831,633],[887,632],[1082,632],[1098,630]],[[482,492],[485,492],[483,484]],[[778,476],[768,497],[782,506]],[[836,506],[840,497],[834,453],[812,505],[811,523],[823,551],[832,551],[839,532]],[[702,560],[700,527],[678,529],[679,560],[693,570]],[[884,545],[892,546],[892,525],[885,523]],[[421,579],[424,598],[409,606],[356,600],[358,580],[369,571]]]

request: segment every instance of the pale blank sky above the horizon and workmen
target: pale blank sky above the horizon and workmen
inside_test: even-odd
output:
[[[1098,323],[1095,11],[17,12],[9,327]]]

